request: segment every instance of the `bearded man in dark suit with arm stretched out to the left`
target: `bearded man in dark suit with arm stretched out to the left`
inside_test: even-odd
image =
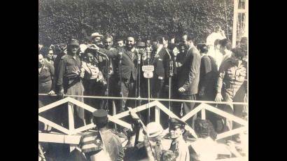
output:
[[[135,81],[137,80],[137,50],[134,47],[135,40],[133,36],[128,36],[126,45],[124,48],[117,48],[116,50],[105,50],[99,48],[97,45],[93,45],[90,48],[97,50],[99,54],[107,55],[110,58],[117,59],[119,62],[119,69],[117,72],[118,77],[121,77],[119,81],[120,92],[123,97],[134,97],[135,95]],[[132,103],[134,101],[130,101]],[[120,112],[125,111],[127,99],[123,99],[123,104],[120,106]],[[128,102],[129,103],[129,102]],[[129,106],[132,104],[129,104]]]

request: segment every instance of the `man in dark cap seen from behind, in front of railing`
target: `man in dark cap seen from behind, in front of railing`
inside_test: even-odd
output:
[[[107,128],[108,113],[104,109],[99,109],[97,111],[94,111],[92,113],[92,116],[93,116],[93,123],[96,125],[97,130],[99,130],[99,133],[94,134],[100,135],[94,137],[95,138],[94,144],[97,145],[97,143],[99,143],[99,141],[97,141],[97,138],[100,137],[100,139],[102,139],[103,142],[102,146],[105,146],[106,152],[109,153],[111,161],[123,160],[124,151],[122,142],[120,141],[120,138],[116,134],[114,134],[111,130]],[[87,143],[90,143],[90,141]]]

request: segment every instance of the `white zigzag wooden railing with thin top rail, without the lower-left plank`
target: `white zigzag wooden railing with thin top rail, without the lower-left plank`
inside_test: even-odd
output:
[[[39,94],[39,95],[47,95],[47,94]],[[62,127],[62,126],[57,125],[56,123],[52,123],[52,121],[47,120],[47,119],[43,118],[42,116],[38,116],[38,120],[41,121],[42,123],[50,125],[51,127],[54,127],[55,129],[63,132],[64,134],[68,134],[68,135],[79,134],[80,132],[83,132],[85,130],[89,130],[89,129],[95,127],[95,125],[90,124],[90,125],[85,125],[83,127],[79,127],[77,129],[74,128],[72,104],[76,104],[80,108],[83,108],[83,109],[90,111],[90,112],[94,112],[97,109],[94,109],[92,106],[84,104],[83,102],[79,102],[76,99],[73,99],[71,97],[86,97],[86,98],[98,98],[98,99],[123,99],[122,97],[69,96],[69,97],[61,99],[57,102],[53,102],[52,104],[48,104],[47,106],[43,106],[40,109],[38,109],[38,113],[40,114],[44,111],[48,111],[49,109],[53,109],[56,106],[59,106],[61,104],[68,103],[69,130]],[[139,99],[139,98],[127,97],[127,99]],[[141,98],[141,99],[147,100],[145,98]],[[225,111],[221,111],[220,109],[217,109],[216,107],[209,105],[209,104],[242,104],[242,105],[246,105],[247,104],[246,102],[209,102],[209,101],[181,100],[181,99],[151,99],[151,100],[156,100],[156,101],[150,102],[149,104],[137,106],[136,108],[132,109],[132,111],[139,112],[139,111],[146,110],[148,108],[155,107],[155,122],[160,123],[160,110],[165,112],[170,117],[173,117],[173,118],[179,118],[179,117],[176,116],[174,113],[172,113],[172,111],[169,111],[169,109],[167,109],[163,104],[161,104],[158,101],[195,102],[195,103],[200,102],[202,104],[200,104],[195,109],[193,109],[193,111],[190,111],[190,113],[187,113],[186,116],[183,116],[183,118],[179,118],[179,119],[186,121],[200,111],[202,113],[202,119],[205,119],[206,118],[205,111],[208,110],[208,111],[211,111],[213,113],[218,114],[219,116],[223,116],[224,118],[228,118],[232,121],[235,121],[236,123],[243,125],[243,127],[239,127],[235,130],[230,130],[228,132],[218,134],[217,139],[223,139],[225,137],[230,137],[234,134],[238,134],[239,132],[247,130],[246,128],[247,128],[248,123],[246,120],[243,120],[237,116],[233,116],[230,113],[226,113]],[[113,123],[116,123],[116,124],[121,125],[123,127],[127,127],[129,129],[132,129],[132,125],[130,125],[129,123],[126,123],[123,120],[120,120],[120,118],[123,118],[123,117],[128,116],[128,115],[129,115],[129,111],[125,111],[123,113],[118,113],[115,116],[108,116],[108,118]],[[197,135],[195,134],[194,130],[191,127],[188,127],[188,129],[190,130],[191,134],[193,134],[194,137],[197,137]]]

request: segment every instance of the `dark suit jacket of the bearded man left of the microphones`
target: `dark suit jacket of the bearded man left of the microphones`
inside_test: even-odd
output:
[[[100,48],[99,52],[103,52],[104,54],[111,57],[114,62],[119,62],[119,52],[122,52],[122,63],[118,68],[117,75],[122,78],[130,79],[131,76],[134,80],[137,80],[137,50],[134,50],[134,55],[132,56],[131,52],[126,48],[117,48],[116,50],[105,50]]]

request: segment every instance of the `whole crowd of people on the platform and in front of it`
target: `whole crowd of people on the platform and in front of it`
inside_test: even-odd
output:
[[[157,35],[138,39],[130,35],[116,40],[109,34],[102,35],[95,32],[87,42],[80,43],[75,38],[71,38],[66,44],[43,46],[39,43],[38,46],[39,93],[57,94],[58,96],[39,96],[39,108],[55,102],[57,99],[62,99],[65,95],[159,99],[170,97],[172,99],[216,102],[244,102],[244,98],[246,98],[247,38],[241,38],[236,48],[231,48],[230,41],[220,29],[213,35],[211,34],[207,38],[207,42],[198,44],[195,44],[195,35],[188,32],[170,38],[165,35]],[[154,66],[151,81],[144,78],[144,71],[141,70],[141,67],[145,65]],[[150,82],[150,92],[148,91],[148,82]],[[151,93],[150,96],[148,93]],[[171,93],[170,96],[169,93]],[[90,113],[74,106],[75,126],[96,124],[99,132],[89,133],[87,136],[102,136],[103,144],[100,144],[99,141],[97,143],[100,146],[105,146],[111,160],[123,160],[124,158],[129,160],[128,155],[125,154],[130,152],[124,152],[118,136],[111,134],[107,129],[106,117],[108,113],[111,115],[121,113],[130,107],[134,108],[147,102],[131,99],[73,98],[99,109]],[[113,104],[116,106],[116,111],[112,108]],[[168,106],[167,102],[162,102],[162,104]],[[62,106],[66,106],[66,104]],[[171,110],[179,118],[182,118],[196,106],[197,104],[190,102],[172,102]],[[240,118],[246,118],[245,106],[218,104],[216,107]],[[68,127],[66,108],[57,108],[52,112],[47,116],[49,120]],[[141,125],[142,122],[146,123],[147,127],[151,126],[152,115],[144,112],[138,114],[139,117],[136,113],[131,113],[132,117],[126,118],[126,121],[134,124],[134,127],[144,128]],[[186,124],[197,129],[197,133],[205,132],[203,138],[211,137],[213,139],[209,140],[212,141],[215,138],[209,134],[211,132],[207,130],[207,127],[208,129],[214,127],[214,133],[235,128],[232,126],[231,120],[224,120],[212,113],[207,113],[208,123],[202,123],[206,120],[199,121],[200,119],[196,115],[186,123],[177,118],[168,119],[167,117],[162,116],[160,121],[163,127],[169,127],[169,135],[173,140],[169,151],[156,148],[160,147],[157,145],[149,145],[151,140],[160,144],[163,131],[151,136],[153,135],[151,131],[144,130],[147,137],[143,147],[145,147],[144,151],[150,160],[191,160],[190,151],[192,150],[189,150],[183,139],[183,134],[186,133],[184,128]],[[155,129],[163,129],[162,125],[155,126]],[[239,125],[234,126],[238,127]],[[52,128],[39,124],[39,130],[50,132]],[[126,134],[127,130],[120,127],[116,133],[120,136],[120,134]],[[137,132],[133,132],[133,134],[136,135]],[[130,136],[130,138],[133,137]],[[239,137],[232,139],[240,141]],[[85,139],[82,137],[82,142],[83,140]],[[87,143],[90,144],[89,141]],[[130,148],[136,147],[136,144],[137,139],[130,144]],[[93,158],[92,156],[96,155],[100,149],[88,148],[85,155],[89,156],[87,157],[89,159]],[[132,148],[130,151],[136,150]],[[137,148],[137,151],[141,151],[141,148]],[[196,153],[195,149],[193,152]],[[192,156],[193,160],[198,160],[194,155]]]

